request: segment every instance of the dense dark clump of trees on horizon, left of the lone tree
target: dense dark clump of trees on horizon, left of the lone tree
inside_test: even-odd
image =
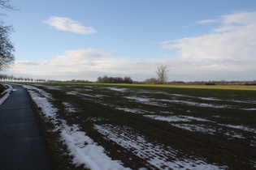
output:
[[[133,83],[132,79],[130,77],[107,77],[104,75],[103,77],[98,77],[97,79],[98,83]]]

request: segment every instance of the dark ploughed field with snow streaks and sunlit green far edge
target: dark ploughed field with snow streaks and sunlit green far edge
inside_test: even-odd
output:
[[[30,85],[124,167],[256,168],[255,87]]]

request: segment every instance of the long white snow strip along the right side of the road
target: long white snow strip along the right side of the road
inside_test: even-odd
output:
[[[61,140],[67,145],[70,155],[73,156],[74,164],[85,164],[86,168],[91,169],[128,169],[124,168],[119,160],[112,160],[108,157],[104,148],[93,142],[93,139],[86,136],[85,132],[80,131],[78,125],[68,126],[66,121],[57,119],[58,109],[50,104],[50,100],[52,100],[50,94],[37,87],[26,85],[23,87],[28,89],[30,96],[41,108],[46,118],[50,118],[48,120],[55,125],[55,130],[61,131]],[[58,125],[57,121],[62,122],[61,125]]]

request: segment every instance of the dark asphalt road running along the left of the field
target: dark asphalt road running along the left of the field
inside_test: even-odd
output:
[[[0,169],[54,169],[23,87],[0,105]]]

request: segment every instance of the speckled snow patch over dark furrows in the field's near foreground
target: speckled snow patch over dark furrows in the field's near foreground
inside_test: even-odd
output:
[[[148,141],[143,135],[136,134],[132,128],[119,125],[94,125],[94,129],[116,142],[120,146],[132,151],[133,154],[146,159],[151,168],[158,169],[220,169],[213,164],[207,164],[203,159],[191,158],[171,147],[164,147]],[[174,160],[170,160],[174,159]],[[154,167],[152,167],[154,166]]]

